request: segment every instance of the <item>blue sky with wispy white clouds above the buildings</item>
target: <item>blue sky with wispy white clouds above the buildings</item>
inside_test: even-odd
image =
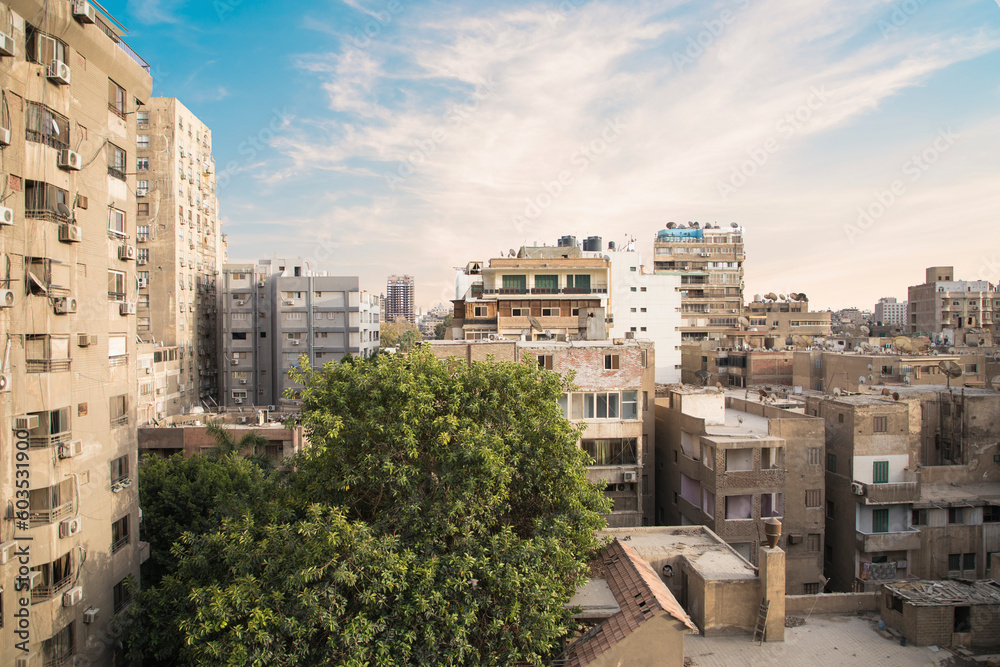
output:
[[[423,308],[565,234],[745,228],[746,294],[1000,281],[1000,0],[108,0],[213,133],[230,261]]]

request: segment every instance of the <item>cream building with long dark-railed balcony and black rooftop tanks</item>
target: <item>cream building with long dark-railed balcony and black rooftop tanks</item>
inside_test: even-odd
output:
[[[464,340],[607,340],[610,262],[575,237],[470,262],[456,287],[452,337]],[[512,253],[513,254],[513,253]]]

